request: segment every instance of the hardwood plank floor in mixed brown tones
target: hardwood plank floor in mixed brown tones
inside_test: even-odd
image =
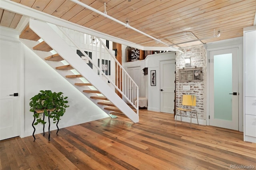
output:
[[[256,169],[256,144],[243,133],[177,122],[173,115],[140,110],[140,122],[100,119],[0,142],[1,170]],[[249,167],[250,166],[250,167]]]

